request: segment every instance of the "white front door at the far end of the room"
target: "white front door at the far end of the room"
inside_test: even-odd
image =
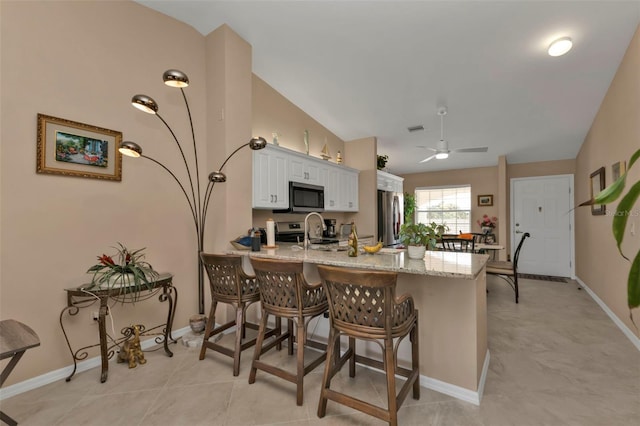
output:
[[[511,179],[511,256],[518,272],[574,277],[573,175]]]

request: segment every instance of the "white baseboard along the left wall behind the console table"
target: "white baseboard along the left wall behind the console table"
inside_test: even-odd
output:
[[[184,334],[186,334],[189,331],[191,331],[191,328],[187,326],[179,330],[172,330],[171,335],[174,339],[178,339],[179,337],[182,337]],[[142,347],[142,349],[149,349],[155,345],[157,345],[155,338],[150,338],[140,342],[140,346]],[[81,373],[83,371],[90,370],[95,367],[99,367],[100,365],[102,365],[100,356],[88,358],[84,361],[80,361],[77,364],[76,374]],[[69,377],[72,371],[73,371],[73,365],[70,365],[68,367],[63,367],[58,370],[50,371],[48,373],[42,374],[37,377],[33,377],[23,382],[19,382],[14,385],[7,386],[6,388],[2,388],[0,389],[0,401],[6,398],[11,398],[12,396],[15,396],[15,395],[19,395],[23,392],[28,392],[30,390],[39,388],[40,386],[48,385],[49,383],[66,379],[67,377]]]

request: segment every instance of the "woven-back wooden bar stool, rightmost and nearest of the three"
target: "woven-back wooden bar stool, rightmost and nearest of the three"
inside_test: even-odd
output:
[[[322,285],[329,302],[330,331],[318,417],[324,417],[327,400],[347,405],[370,414],[391,425],[398,424],[400,409],[409,390],[413,387],[413,399],[420,399],[420,367],[418,352],[418,310],[413,298],[403,295],[396,298],[395,272],[357,270],[318,265]],[[387,409],[331,389],[331,379],[340,371],[336,363],[340,336],[349,337],[349,376],[355,377],[355,364],[360,363],[383,370],[387,377]],[[409,336],[411,340],[411,369],[398,366],[398,345]],[[383,361],[356,354],[355,339],[374,341],[382,349]],[[394,346],[394,339],[397,339]],[[407,378],[396,396],[396,378]]]

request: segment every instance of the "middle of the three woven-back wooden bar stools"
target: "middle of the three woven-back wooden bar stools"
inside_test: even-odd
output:
[[[322,284],[310,285],[306,282],[301,261],[283,261],[277,259],[251,258],[260,288],[262,321],[258,331],[249,374],[249,383],[256,380],[257,370],[278,376],[296,384],[296,403],[302,405],[304,376],[320,365],[326,358],[326,345],[307,340],[307,325],[311,319],[322,315],[327,310],[327,297]],[[288,339],[289,355],[293,355],[293,322],[296,323],[295,340],[297,343],[296,373],[290,373],[260,360],[262,344],[266,337],[269,315],[287,319],[287,333],[282,334],[280,341]],[[313,346],[322,350],[320,356],[304,364],[304,347]]]

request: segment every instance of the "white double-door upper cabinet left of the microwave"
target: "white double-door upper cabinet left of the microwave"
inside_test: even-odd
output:
[[[286,209],[289,207],[289,157],[267,146],[253,151],[254,209]]]

